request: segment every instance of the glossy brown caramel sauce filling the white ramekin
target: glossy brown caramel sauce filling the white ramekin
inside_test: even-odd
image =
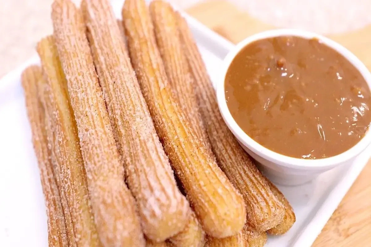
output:
[[[230,64],[225,95],[247,135],[290,157],[340,154],[361,140],[371,121],[370,88],[361,73],[316,39],[250,43]]]

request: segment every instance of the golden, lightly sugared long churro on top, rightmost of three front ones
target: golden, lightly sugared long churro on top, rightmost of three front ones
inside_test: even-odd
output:
[[[155,128],[204,230],[227,237],[246,220],[243,199],[175,103],[144,0],[127,0],[122,16],[131,62]]]

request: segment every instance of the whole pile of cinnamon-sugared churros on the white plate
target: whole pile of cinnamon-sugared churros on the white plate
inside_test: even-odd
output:
[[[22,74],[49,246],[258,247],[286,233],[292,207],[223,122],[183,17],[126,0],[122,18],[109,0],[55,0],[42,66]]]

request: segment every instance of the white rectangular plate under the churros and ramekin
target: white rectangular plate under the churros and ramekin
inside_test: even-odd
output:
[[[121,4],[114,1],[118,16]],[[190,23],[211,79],[233,44],[184,14]],[[0,80],[0,246],[47,246],[45,205],[20,74],[37,57]],[[296,223],[283,236],[269,237],[267,247],[311,246],[370,158],[371,147],[351,166],[328,171],[297,187],[278,186],[290,201]]]

